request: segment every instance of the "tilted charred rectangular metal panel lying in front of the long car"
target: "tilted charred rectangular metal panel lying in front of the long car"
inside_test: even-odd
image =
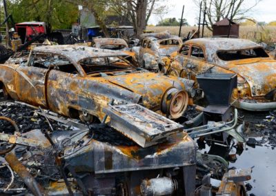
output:
[[[103,111],[110,126],[144,148],[166,141],[184,127],[137,104],[110,106]]]

